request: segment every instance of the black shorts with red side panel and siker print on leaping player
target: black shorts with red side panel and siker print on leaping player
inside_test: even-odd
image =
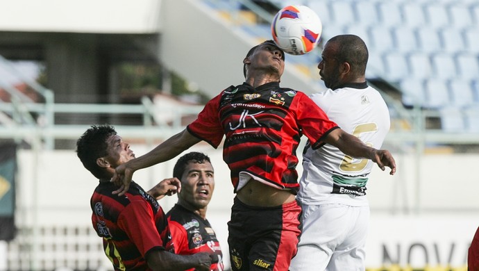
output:
[[[301,206],[296,201],[254,207],[235,197],[228,222],[232,270],[288,270],[296,255],[301,227]]]

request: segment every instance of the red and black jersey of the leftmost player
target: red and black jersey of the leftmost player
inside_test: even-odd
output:
[[[90,205],[92,224],[103,238],[103,248],[115,270],[150,270],[145,254],[152,249],[174,252],[168,222],[156,199],[131,182],[124,196],[112,195],[118,188],[99,183]]]

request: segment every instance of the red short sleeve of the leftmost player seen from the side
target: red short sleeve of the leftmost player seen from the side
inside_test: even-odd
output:
[[[119,215],[118,226],[126,232],[142,256],[153,248],[165,249],[148,202],[133,201],[128,204]]]

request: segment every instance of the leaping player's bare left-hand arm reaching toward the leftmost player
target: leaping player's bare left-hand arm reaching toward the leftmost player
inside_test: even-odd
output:
[[[111,181],[120,186],[120,188],[115,190],[113,194],[121,196],[128,191],[135,171],[168,161],[200,141],[199,138],[192,136],[185,129],[162,142],[155,149],[149,151],[149,153],[119,165],[115,168],[115,174],[112,176]]]

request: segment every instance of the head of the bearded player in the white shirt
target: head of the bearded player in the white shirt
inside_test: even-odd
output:
[[[326,42],[318,65],[319,74],[328,88],[364,79],[368,49],[357,35],[337,35]]]

